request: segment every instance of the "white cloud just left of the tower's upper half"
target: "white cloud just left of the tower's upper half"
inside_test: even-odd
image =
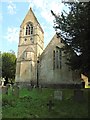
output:
[[[12,43],[12,42],[18,43],[19,28],[18,27],[8,27],[5,39],[7,39],[10,43]]]

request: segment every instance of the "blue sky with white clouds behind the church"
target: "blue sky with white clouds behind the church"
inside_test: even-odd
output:
[[[20,25],[30,7],[44,30],[44,47],[50,42],[55,34],[54,18],[50,11],[53,10],[59,14],[66,9],[62,0],[2,0],[0,3],[0,51],[13,50],[17,54]]]

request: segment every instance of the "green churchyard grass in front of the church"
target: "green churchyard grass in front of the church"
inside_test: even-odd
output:
[[[84,91],[85,100],[73,100],[73,90],[63,89],[63,100],[55,100],[55,89],[20,89],[19,97],[3,95],[3,118],[87,118],[88,93]],[[54,107],[48,110],[47,103],[52,99]]]

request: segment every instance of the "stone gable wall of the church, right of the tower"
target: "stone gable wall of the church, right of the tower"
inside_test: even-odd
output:
[[[62,51],[62,68],[53,69],[53,50],[63,47],[60,38],[55,35],[40,57],[39,84],[74,83],[72,71],[66,65],[66,56]],[[76,81],[75,81],[76,82]]]

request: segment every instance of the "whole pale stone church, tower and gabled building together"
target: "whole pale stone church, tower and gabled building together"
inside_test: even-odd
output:
[[[30,8],[20,26],[16,83],[48,86],[79,82],[65,63],[63,45],[55,34],[44,49],[44,31]]]

